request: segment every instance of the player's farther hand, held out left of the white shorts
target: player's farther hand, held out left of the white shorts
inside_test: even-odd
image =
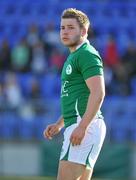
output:
[[[47,139],[52,139],[52,137],[60,132],[61,128],[58,124],[51,124],[47,126],[44,130],[43,135]]]

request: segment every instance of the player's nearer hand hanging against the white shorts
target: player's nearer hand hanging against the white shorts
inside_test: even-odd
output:
[[[84,136],[85,136],[85,128],[78,126],[72,132],[70,137],[70,142],[72,143],[73,146],[80,145]]]

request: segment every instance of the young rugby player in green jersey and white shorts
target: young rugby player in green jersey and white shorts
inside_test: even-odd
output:
[[[100,112],[105,96],[103,65],[87,40],[89,25],[79,10],[62,13],[60,37],[70,50],[61,75],[62,116],[44,131],[52,139],[66,128],[57,180],[89,180],[105,138]]]

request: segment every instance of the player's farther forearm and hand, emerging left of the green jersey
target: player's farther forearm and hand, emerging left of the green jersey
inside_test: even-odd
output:
[[[50,124],[45,128],[43,135],[47,139],[52,139],[52,137],[58,134],[63,127],[64,127],[64,119],[62,116],[60,116],[60,118],[56,123]]]

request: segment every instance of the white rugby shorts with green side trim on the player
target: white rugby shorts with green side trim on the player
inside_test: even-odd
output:
[[[103,145],[106,126],[103,119],[93,119],[81,144],[72,146],[70,136],[79,122],[80,120],[76,124],[67,127],[64,131],[60,160],[71,161],[93,168]]]

